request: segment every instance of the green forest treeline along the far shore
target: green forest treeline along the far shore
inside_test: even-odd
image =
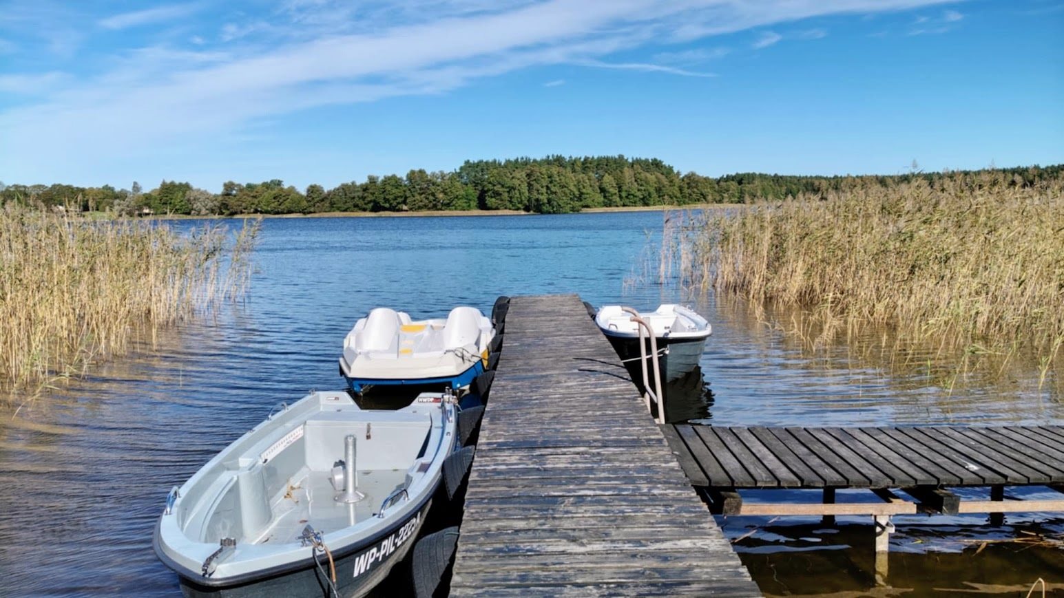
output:
[[[953,172],[921,172],[914,163],[902,175],[861,177],[798,177],[742,172],[719,178],[681,175],[656,159],[624,155],[466,161],[451,172],[411,170],[405,177],[369,176],[334,188],[310,185],[304,190],[278,179],[262,183],[227,182],[220,193],[189,183],[163,181],[145,192],[111,185],[4,185],[0,203],[120,215],[310,214],[320,212],[421,212],[451,210],[516,210],[541,214],[579,212],[587,207],[743,203],[783,199],[799,193],[824,194],[854,186],[891,186]],[[1064,176],[1064,165],[995,169],[1010,184],[1029,186]],[[967,171],[975,172],[975,171]],[[56,207],[59,209],[59,207]]]

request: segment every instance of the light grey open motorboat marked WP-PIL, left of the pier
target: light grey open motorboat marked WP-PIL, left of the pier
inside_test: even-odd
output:
[[[186,596],[362,596],[414,545],[440,480],[471,451],[454,451],[456,421],[450,394],[397,411],[309,395],[170,491],[155,553]]]

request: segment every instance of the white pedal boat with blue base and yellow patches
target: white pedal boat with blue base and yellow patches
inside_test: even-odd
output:
[[[468,386],[488,365],[495,327],[480,310],[459,306],[446,318],[413,321],[377,308],[344,339],[340,375],[351,391],[390,384]]]

